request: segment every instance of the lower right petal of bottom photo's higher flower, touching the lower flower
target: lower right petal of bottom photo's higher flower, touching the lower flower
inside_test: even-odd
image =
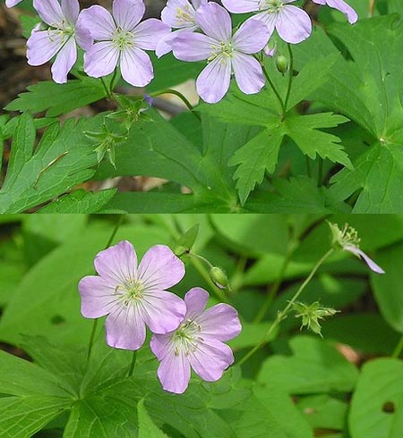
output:
[[[186,305],[174,293],[152,291],[141,299],[139,312],[152,333],[165,334],[176,330],[184,320]]]

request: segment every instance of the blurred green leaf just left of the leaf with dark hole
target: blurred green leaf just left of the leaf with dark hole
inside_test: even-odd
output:
[[[356,367],[331,342],[296,336],[290,347],[293,356],[272,356],[263,362],[259,383],[275,381],[290,394],[348,392],[354,388]]]

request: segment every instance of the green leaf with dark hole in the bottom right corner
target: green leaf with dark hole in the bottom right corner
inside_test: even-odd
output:
[[[381,358],[364,364],[348,418],[352,438],[399,438],[403,427],[403,363]]]

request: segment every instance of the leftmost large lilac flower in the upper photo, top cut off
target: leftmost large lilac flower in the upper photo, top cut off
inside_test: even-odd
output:
[[[84,47],[89,36],[76,29],[80,5],[77,0],[34,0],[39,17],[49,26],[41,30],[36,26],[27,42],[27,58],[30,65],[42,65],[56,55],[52,65],[52,78],[57,83],[67,81],[67,73],[77,60],[76,42]]]

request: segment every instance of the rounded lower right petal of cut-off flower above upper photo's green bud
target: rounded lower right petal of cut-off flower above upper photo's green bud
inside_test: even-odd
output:
[[[311,35],[312,22],[304,10],[296,6],[284,6],[278,14],[276,29],[281,39],[297,44]]]

